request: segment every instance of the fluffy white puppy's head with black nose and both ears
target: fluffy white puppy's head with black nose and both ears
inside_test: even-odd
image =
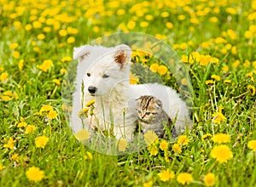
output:
[[[131,48],[122,44],[114,48],[86,49],[79,48],[74,52],[74,58],[78,59],[79,63],[86,63],[87,58],[95,58],[84,70],[84,93],[108,96],[119,83],[129,82]]]

